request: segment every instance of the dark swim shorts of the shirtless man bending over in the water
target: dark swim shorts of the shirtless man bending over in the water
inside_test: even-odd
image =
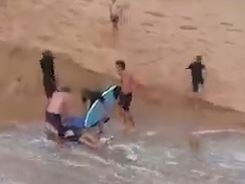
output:
[[[46,122],[51,124],[57,131],[58,135],[60,137],[64,136],[64,127],[62,126],[61,123],[61,116],[60,114],[54,114],[46,111]]]

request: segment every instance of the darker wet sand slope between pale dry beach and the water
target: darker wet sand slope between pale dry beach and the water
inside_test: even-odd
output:
[[[1,124],[43,121],[46,99],[39,68],[40,53],[39,48],[0,43]],[[104,89],[116,82],[112,76],[81,67],[68,54],[56,52],[56,56],[59,82],[70,85],[76,94],[83,87]],[[139,129],[156,126],[163,132],[190,132],[206,128],[237,128],[245,120],[242,113],[186,98],[170,89],[148,87],[137,91],[136,96],[132,110]]]

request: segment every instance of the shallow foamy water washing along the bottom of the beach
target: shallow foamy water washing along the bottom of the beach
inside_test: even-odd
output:
[[[76,144],[57,146],[37,125],[16,126],[0,133],[0,183],[245,183],[243,135],[202,135],[196,152],[183,140],[157,136],[152,130],[132,141],[115,138],[96,152]]]

